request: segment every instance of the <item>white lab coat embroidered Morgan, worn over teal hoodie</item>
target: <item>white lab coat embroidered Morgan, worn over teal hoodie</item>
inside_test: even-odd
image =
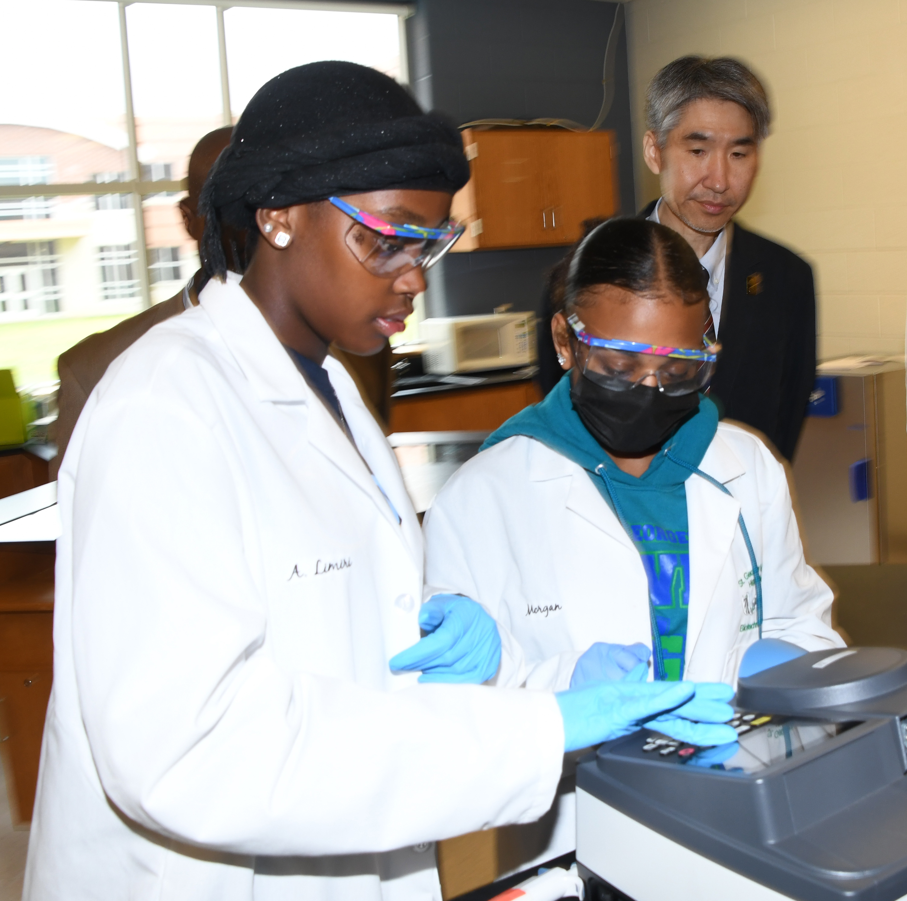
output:
[[[763,636],[807,651],[843,645],[831,627],[832,592],[804,559],[784,467],[756,436],[727,423],[699,467],[733,496],[698,475],[686,483],[684,678],[733,684],[756,641],[741,510],[762,567]],[[563,690],[595,641],[651,647],[639,553],[589,474],[532,438],[509,438],[463,465],[435,497],[424,534],[427,581],[481,602],[498,623],[499,685]],[[532,848],[523,867],[575,847],[569,782],[558,804],[538,827],[516,829]]]

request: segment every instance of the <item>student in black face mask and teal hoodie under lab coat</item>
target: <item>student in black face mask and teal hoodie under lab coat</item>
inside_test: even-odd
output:
[[[703,393],[720,348],[704,335],[695,252],[656,222],[610,220],[561,275],[551,328],[565,374],[424,522],[427,582],[498,624],[497,684],[734,683],[760,638],[843,644],[783,466]],[[521,868],[574,847],[571,791],[566,780],[547,821],[518,828]]]

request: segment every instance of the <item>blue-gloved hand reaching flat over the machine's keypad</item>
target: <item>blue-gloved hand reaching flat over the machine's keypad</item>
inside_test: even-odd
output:
[[[721,688],[733,695],[733,690],[727,685]],[[590,682],[580,689],[560,691],[555,698],[564,721],[564,750],[571,751],[629,735],[641,729],[643,723],[650,729],[690,744],[735,741],[736,732],[730,726],[686,719],[688,716],[694,720],[700,716],[725,716],[729,720],[733,710],[717,697],[730,695],[726,691],[719,692],[711,684],[619,681]],[[664,711],[670,712],[664,717],[652,719],[656,713]],[[679,723],[684,724],[683,728]],[[666,726],[672,731],[666,730]]]

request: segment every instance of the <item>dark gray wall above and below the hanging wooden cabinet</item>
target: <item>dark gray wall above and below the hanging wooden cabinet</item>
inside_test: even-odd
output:
[[[427,109],[474,119],[571,119],[591,125],[602,100],[605,46],[618,4],[601,0],[418,0],[407,20],[410,81]],[[634,206],[626,29],[616,93],[602,128],[617,132],[621,211]],[[429,316],[538,311],[563,248],[451,253],[430,273]]]

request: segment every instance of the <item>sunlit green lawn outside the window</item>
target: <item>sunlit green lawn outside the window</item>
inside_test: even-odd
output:
[[[0,369],[12,369],[16,387],[57,377],[56,358],[96,331],[106,331],[132,316],[32,319],[0,325]]]

